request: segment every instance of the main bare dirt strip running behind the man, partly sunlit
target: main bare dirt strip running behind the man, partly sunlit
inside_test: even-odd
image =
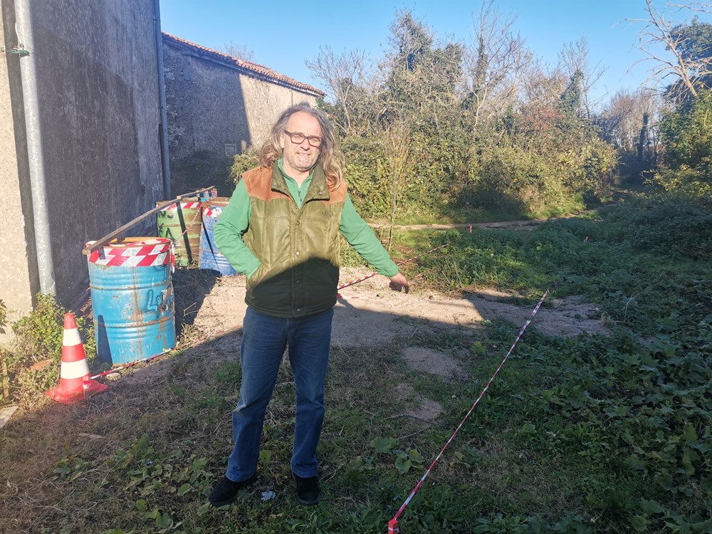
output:
[[[345,283],[366,274],[370,273],[365,268],[344,268],[341,281]],[[499,302],[511,295],[492,290],[449,296],[416,285],[405,294],[389,290],[387,283],[387,278],[377,275],[341,290],[335,307],[334,344],[380,345],[396,336],[413,335],[416,330],[467,333],[481,328],[483,321],[495,318],[523,325],[533,309]],[[241,329],[246,309],[244,297],[244,277],[219,279],[204,298],[194,324],[206,332]],[[583,303],[580,298],[553,298],[539,310],[533,326],[550,335],[599,332],[604,325],[591,318],[597,312],[595,305]]]

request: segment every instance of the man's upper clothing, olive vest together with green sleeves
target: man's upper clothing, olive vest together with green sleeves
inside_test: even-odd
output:
[[[344,218],[345,206],[349,217]],[[342,219],[350,221],[346,228]],[[330,189],[318,164],[299,206],[274,164],[243,174],[214,239],[234,268],[248,274],[247,304],[267,315],[293,318],[336,303],[340,231],[377,271],[386,276],[398,272],[355,213],[345,182]]]

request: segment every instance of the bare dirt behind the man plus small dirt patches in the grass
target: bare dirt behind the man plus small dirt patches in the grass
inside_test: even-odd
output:
[[[343,268],[342,283],[370,274],[365,268]],[[441,377],[446,381],[466,379],[468,373],[451,350],[433,348],[414,343],[414,340],[436,340],[441,335],[472,335],[473,341],[483,328],[483,322],[503,318],[510,320],[512,340],[530,318],[533,306],[518,306],[502,302],[512,295],[493,290],[482,290],[462,295],[446,295],[438,291],[412,286],[410,293],[389,290],[388,279],[374,276],[345,288],[335,306],[332,330],[333,347],[375,347],[400,340],[399,357],[417,372]],[[191,307],[194,326],[210,336],[206,362],[211,367],[221,362],[239,358],[242,340],[242,321],[245,305],[245,279],[243,276],[218,278],[200,303]],[[604,325],[595,317],[595,305],[580,298],[550,298],[540,308],[530,328],[549,335],[577,335],[601,332]],[[124,377],[125,382],[155,382],[169,372],[169,365],[157,362],[141,372]],[[415,393],[408,384],[397,384],[396,390],[403,398],[415,399],[407,415],[424,421],[435,421],[441,413],[436,402]]]

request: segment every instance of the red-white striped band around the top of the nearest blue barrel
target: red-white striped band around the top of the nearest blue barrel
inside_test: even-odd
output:
[[[87,246],[93,244],[89,241]],[[89,262],[115,267],[152,267],[173,263],[172,241],[162,237],[108,244],[93,251]]]

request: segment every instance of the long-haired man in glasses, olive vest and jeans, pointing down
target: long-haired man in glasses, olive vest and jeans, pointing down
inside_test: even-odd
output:
[[[339,281],[339,233],[394,290],[409,289],[347,194],[334,130],[308,103],[284,111],[243,174],[214,229],[215,243],[246,276],[240,399],[234,449],[208,500],[231,502],[256,478],[267,404],[286,347],[296,414],[290,461],[297,500],[319,501],[316,448],[324,419],[324,379]]]

